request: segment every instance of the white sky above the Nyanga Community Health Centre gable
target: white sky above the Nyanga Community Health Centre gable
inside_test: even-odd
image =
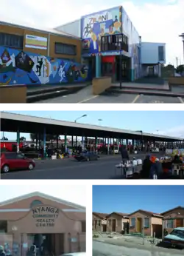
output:
[[[5,192],[5,193],[4,193]],[[32,192],[42,192],[46,195],[52,195],[55,198],[63,199],[71,203],[77,203],[88,207],[88,184],[1,184],[0,202],[26,195]]]

